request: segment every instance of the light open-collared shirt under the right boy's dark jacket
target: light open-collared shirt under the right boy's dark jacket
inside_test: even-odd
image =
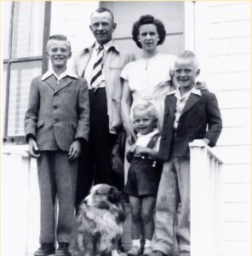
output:
[[[177,89],[169,93],[169,94],[174,94],[175,97],[177,98],[176,110],[175,110],[175,123],[174,123],[175,130],[178,128],[180,115],[183,111],[183,108],[185,108],[186,102],[189,96],[191,95],[191,93],[201,96],[200,90],[196,90],[194,87],[192,87],[192,90],[187,91],[183,96],[181,96],[180,89]]]

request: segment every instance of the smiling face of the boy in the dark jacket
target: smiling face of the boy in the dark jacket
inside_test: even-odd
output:
[[[199,69],[195,61],[175,60],[175,79],[180,84],[180,88],[190,89],[195,84]]]

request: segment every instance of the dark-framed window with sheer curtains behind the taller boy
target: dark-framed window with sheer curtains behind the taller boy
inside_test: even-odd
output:
[[[3,2],[3,142],[24,142],[31,79],[43,73],[49,2]]]

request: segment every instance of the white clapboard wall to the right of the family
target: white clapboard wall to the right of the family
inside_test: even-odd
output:
[[[223,119],[215,153],[224,161],[225,256],[250,255],[250,9],[248,1],[194,4],[201,79],[217,96]]]

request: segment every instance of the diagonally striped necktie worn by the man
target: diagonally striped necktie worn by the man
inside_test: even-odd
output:
[[[104,47],[102,45],[99,46],[96,61],[94,62],[94,67],[92,71],[92,79],[90,81],[90,85],[93,88],[96,88],[100,82],[102,81],[102,67],[103,67],[103,55],[104,55]]]

